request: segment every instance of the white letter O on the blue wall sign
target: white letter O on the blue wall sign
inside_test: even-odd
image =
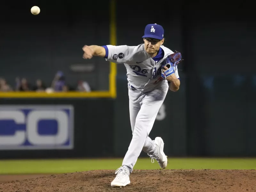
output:
[[[58,131],[56,135],[38,134],[40,120],[56,120]],[[60,145],[68,140],[68,115],[64,111],[31,111],[27,117],[28,141],[33,145]]]

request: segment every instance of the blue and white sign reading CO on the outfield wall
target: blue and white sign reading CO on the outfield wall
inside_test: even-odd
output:
[[[73,106],[0,105],[0,150],[72,149],[73,133]]]

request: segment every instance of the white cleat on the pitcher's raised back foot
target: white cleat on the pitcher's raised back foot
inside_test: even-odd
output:
[[[154,143],[156,143],[156,147],[158,148],[158,152],[153,155],[149,155],[151,158],[151,162],[154,163],[154,159],[158,162],[160,167],[162,169],[165,169],[167,167],[168,161],[167,156],[164,154],[164,141],[161,137],[156,137],[155,140],[153,140]]]

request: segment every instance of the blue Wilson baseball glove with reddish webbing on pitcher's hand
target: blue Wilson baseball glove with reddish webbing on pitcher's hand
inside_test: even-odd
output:
[[[166,79],[170,75],[174,74],[175,67],[178,65],[180,61],[182,61],[182,56],[180,52],[176,51],[176,53],[172,53],[171,55],[168,55],[161,66],[162,78]],[[164,66],[166,66],[168,69],[163,72]]]

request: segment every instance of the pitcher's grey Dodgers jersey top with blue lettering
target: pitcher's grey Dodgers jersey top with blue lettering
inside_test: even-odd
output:
[[[128,87],[140,92],[148,92],[167,84],[161,79],[161,63],[173,52],[161,45],[156,57],[151,58],[146,52],[144,44],[138,46],[106,45],[106,60],[114,63],[124,63],[127,70]],[[175,75],[179,78],[177,66]]]

